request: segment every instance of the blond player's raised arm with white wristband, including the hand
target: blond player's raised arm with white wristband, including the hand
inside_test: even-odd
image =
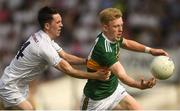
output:
[[[128,39],[123,39],[123,48],[136,52],[150,53],[154,56],[159,56],[159,55],[168,56],[168,53],[163,49],[150,48],[136,41],[128,40]]]

